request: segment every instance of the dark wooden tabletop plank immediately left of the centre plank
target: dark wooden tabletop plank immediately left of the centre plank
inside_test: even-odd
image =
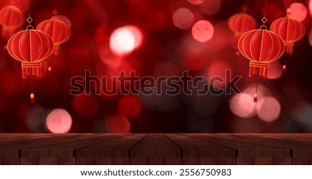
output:
[[[131,149],[146,134],[125,135],[76,150],[76,157],[112,157],[112,164],[130,164]]]

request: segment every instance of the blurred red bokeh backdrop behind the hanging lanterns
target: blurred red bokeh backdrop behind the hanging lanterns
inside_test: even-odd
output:
[[[28,1],[16,2],[27,17]],[[69,94],[71,78],[85,76],[86,70],[91,71],[92,76],[106,76],[111,82],[108,77],[118,76],[123,70],[125,74],[135,70],[137,76],[155,79],[182,76],[183,71],[189,70],[189,75],[204,76],[208,81],[211,76],[222,77],[225,69],[231,69],[232,76],[243,76],[236,85],[241,92],[252,93],[250,87],[257,78],[248,77],[249,60],[233,48],[234,33],[227,26],[227,20],[242,12],[245,6],[258,27],[263,15],[270,26],[275,19],[286,15],[292,3],[302,3],[309,9],[310,1],[268,0],[266,5],[263,0],[203,0],[202,3],[187,0],[47,0],[42,3],[32,0],[33,26],[52,17],[56,7],[58,15],[66,15],[71,21],[71,37],[61,44],[59,56],[52,55],[42,63],[42,78],[33,79],[35,103],[29,100],[31,80],[21,78],[20,63],[6,51],[7,40],[0,38],[0,133],[53,132],[46,127],[46,120],[55,109],[64,109],[68,114],[55,115],[58,120],[53,121],[54,127],[70,124],[69,133],[309,133],[312,131],[309,14],[302,22],[306,35],[295,43],[294,54],[287,60],[287,71],[281,75],[281,64],[277,62],[269,69],[268,78],[272,80],[259,79],[263,101],[257,104],[244,102],[249,99],[246,95],[234,99],[234,94],[97,95],[96,89],[103,86],[94,84],[92,79],[89,79],[92,85],[86,87],[90,95]],[[6,4],[1,1],[0,8]],[[181,12],[188,14],[173,18],[179,8],[187,8]],[[179,22],[183,19],[186,22]],[[192,37],[194,33],[207,35],[205,27],[198,27],[198,31],[192,29],[200,20],[214,26],[214,35],[207,42],[198,42]],[[26,26],[25,23],[23,28]],[[132,30],[134,26],[139,32],[134,30],[133,48],[121,51],[122,56],[118,56],[110,49],[110,37],[123,26],[132,26]],[[131,85],[119,87],[130,89]],[[225,85],[229,84],[219,83],[215,87],[222,89]],[[104,87],[112,89],[110,85]],[[191,91],[196,92],[196,87]],[[248,105],[252,109],[232,105]],[[275,110],[268,110],[272,108]],[[250,112],[247,118],[240,115],[245,110]],[[263,110],[269,116],[263,114]],[[66,122],[62,122],[62,117]],[[51,123],[53,117],[48,119]]]

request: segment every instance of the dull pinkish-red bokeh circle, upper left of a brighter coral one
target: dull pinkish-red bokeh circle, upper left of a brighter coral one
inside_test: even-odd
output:
[[[173,12],[172,20],[177,28],[184,30],[193,24],[194,15],[193,12],[187,8],[179,8]]]

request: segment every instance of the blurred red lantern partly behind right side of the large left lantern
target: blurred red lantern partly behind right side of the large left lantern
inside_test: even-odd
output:
[[[62,21],[58,17],[52,17],[51,19],[40,22],[37,25],[37,29],[49,34],[54,42],[54,54],[58,55],[60,44],[67,42],[71,36],[71,28],[67,22]]]

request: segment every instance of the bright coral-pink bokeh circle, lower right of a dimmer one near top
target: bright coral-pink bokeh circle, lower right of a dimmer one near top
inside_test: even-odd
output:
[[[194,24],[192,34],[198,42],[207,42],[214,35],[214,26],[208,21],[200,20]]]

